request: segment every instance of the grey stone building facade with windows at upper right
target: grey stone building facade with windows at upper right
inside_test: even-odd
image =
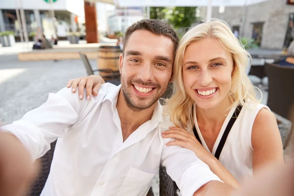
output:
[[[205,8],[201,11],[203,17]],[[237,30],[239,36],[254,39],[261,49],[287,48],[293,40],[294,0],[266,0],[224,9],[213,7],[212,13],[213,18],[224,19],[233,31]]]

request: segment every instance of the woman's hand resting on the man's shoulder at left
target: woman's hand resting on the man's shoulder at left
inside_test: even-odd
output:
[[[76,79],[71,79],[67,83],[67,88],[72,86],[72,92],[75,93],[78,89],[79,99],[84,98],[84,89],[86,87],[86,96],[90,100],[91,96],[97,96],[98,90],[100,89],[101,84],[104,84],[105,81],[100,75],[90,75],[86,77],[79,77]]]

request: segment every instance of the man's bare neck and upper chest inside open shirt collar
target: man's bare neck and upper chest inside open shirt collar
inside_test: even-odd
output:
[[[144,110],[130,108],[123,96],[122,89],[119,92],[116,108],[121,120],[123,142],[134,132],[140,125],[152,118],[154,108],[157,103]]]

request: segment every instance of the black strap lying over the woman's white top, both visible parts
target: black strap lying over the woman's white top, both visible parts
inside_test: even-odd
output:
[[[229,135],[229,133],[230,133],[230,130],[231,130],[232,126],[234,125],[236,119],[238,118],[238,116],[239,116],[239,114],[240,114],[241,109],[242,109],[242,105],[238,105],[238,106],[236,107],[236,110],[235,110],[233,116],[231,117],[229,123],[227,124],[227,126],[226,126],[226,128],[225,128],[225,130],[224,130],[224,132],[223,132],[223,135],[222,135],[222,137],[221,137],[220,144],[219,144],[219,146],[218,146],[218,148],[217,148],[217,150],[216,150],[216,153],[215,153],[215,157],[216,157],[217,159],[220,158],[221,150],[222,150],[222,148],[223,148],[223,146],[224,146],[224,144],[225,144],[225,141],[226,141],[226,139],[227,139],[227,137],[228,137],[228,135]],[[195,127],[195,126],[194,126],[194,128],[193,128],[193,132],[194,132],[194,134],[195,134],[196,139],[197,139],[197,140],[200,142],[200,144],[202,145],[201,140],[200,140],[200,138],[199,138],[199,135],[198,135],[198,133],[197,133],[197,130],[196,130],[196,127]]]

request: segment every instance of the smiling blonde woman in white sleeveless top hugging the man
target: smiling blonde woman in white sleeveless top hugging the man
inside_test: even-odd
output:
[[[194,26],[179,43],[174,94],[164,106],[176,126],[162,134],[175,138],[167,145],[193,150],[235,188],[259,168],[284,163],[275,116],[255,98],[245,74],[248,56],[226,23],[213,20]],[[99,76],[87,79],[88,87],[104,82]],[[70,80],[68,87],[79,81]]]

